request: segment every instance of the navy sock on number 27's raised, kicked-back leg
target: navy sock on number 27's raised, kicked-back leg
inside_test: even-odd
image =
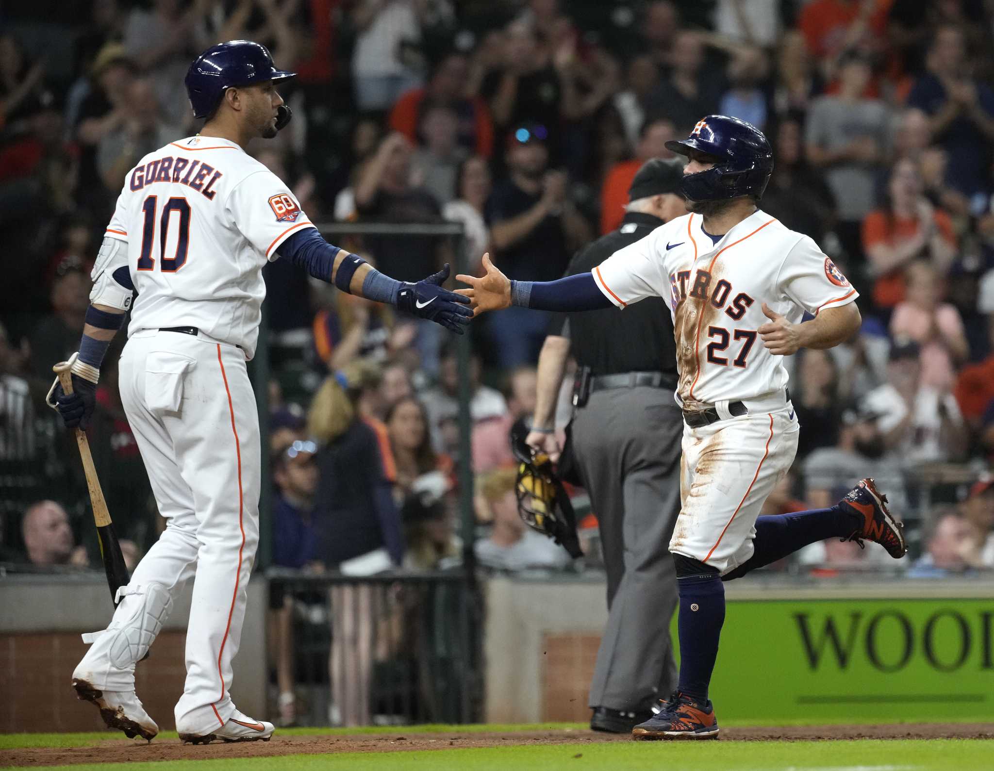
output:
[[[752,556],[735,570],[726,573],[723,580],[740,578],[749,570],[782,559],[808,543],[832,538],[848,538],[861,525],[858,515],[838,505],[831,509],[812,509],[796,514],[759,517],[755,521]]]

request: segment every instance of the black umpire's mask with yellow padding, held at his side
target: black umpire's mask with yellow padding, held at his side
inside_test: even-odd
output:
[[[511,427],[511,449],[518,459],[518,479],[514,492],[521,519],[544,536],[562,545],[576,559],[583,555],[577,538],[577,515],[553,462],[544,452],[536,452],[525,442],[528,425],[524,419]]]

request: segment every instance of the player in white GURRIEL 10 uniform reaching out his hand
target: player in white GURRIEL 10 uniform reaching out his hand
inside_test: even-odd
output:
[[[109,626],[73,674],[107,725],[158,732],[134,692],[134,668],[196,576],[187,679],[176,705],[186,741],[268,740],[273,726],[232,700],[248,575],[258,542],[259,431],[246,362],[258,337],[266,260],[290,259],[343,291],[390,302],[461,332],[468,301],[440,288],[443,271],[401,283],[327,243],[293,194],[246,153],[289,120],[276,70],[255,43],[214,46],[191,66],[197,136],[146,155],[127,175],[95,265],[75,392],[54,388],[67,425],[86,427],[99,366],[130,308],[121,400],[148,471],[161,538],[118,592]],[[134,290],[138,297],[131,307]]]

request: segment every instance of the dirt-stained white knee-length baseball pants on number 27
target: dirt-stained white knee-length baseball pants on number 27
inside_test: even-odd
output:
[[[798,430],[789,402],[699,428],[685,423],[682,506],[670,551],[723,575],[752,556],[756,518],[794,462]]]

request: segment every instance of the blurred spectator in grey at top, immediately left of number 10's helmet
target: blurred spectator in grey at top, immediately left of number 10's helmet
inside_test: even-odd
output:
[[[200,41],[195,35],[202,14],[197,5],[184,9],[181,0],[153,0],[147,10],[132,8],[124,25],[125,55],[151,78],[155,95],[173,120],[190,115],[183,78],[194,57],[214,42]]]

